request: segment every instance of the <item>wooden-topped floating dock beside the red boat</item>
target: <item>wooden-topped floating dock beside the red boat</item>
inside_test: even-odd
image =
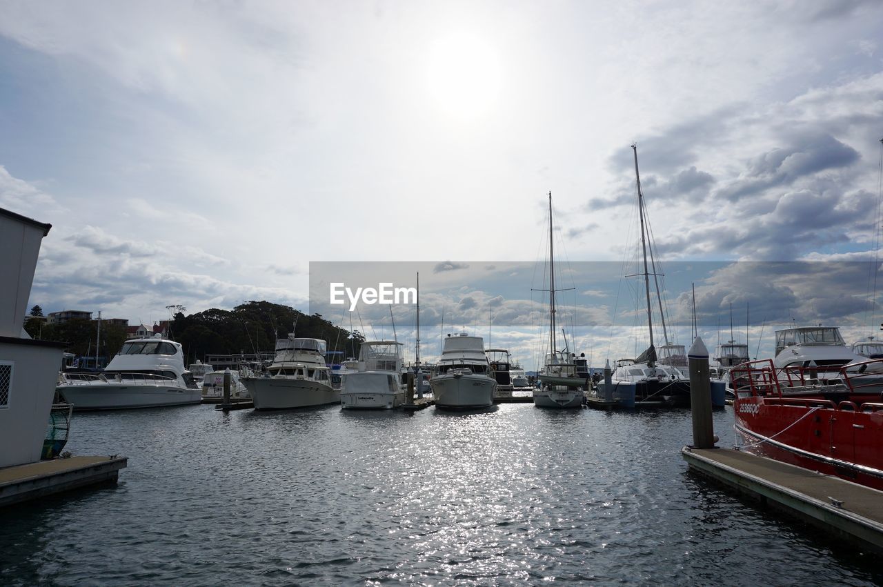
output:
[[[883,492],[729,448],[691,448],[683,458],[737,492],[883,553]]]

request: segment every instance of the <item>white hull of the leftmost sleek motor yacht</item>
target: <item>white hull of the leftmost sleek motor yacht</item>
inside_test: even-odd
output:
[[[57,392],[64,395],[75,411],[128,410],[200,403],[199,389],[173,385],[125,385],[119,383],[83,383],[59,385]]]

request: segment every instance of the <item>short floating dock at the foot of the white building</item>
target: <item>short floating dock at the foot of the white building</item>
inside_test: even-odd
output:
[[[72,456],[0,469],[0,508],[87,485],[116,484],[125,456]]]

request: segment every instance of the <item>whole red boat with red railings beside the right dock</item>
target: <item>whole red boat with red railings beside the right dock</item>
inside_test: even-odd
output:
[[[772,360],[733,367],[743,450],[883,491],[883,360],[821,379]]]

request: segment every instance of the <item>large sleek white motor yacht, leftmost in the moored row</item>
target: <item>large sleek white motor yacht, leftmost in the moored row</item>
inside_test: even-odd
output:
[[[155,335],[123,343],[102,373],[61,373],[56,388],[74,410],[125,410],[200,403],[179,342]]]

